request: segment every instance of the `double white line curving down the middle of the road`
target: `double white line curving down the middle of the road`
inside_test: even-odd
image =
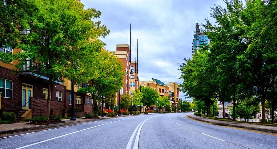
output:
[[[153,116],[153,117],[157,117],[157,116]],[[133,134],[131,135],[131,137],[130,137],[130,139],[129,139],[129,142],[128,142],[127,146],[126,146],[126,149],[130,149],[130,148],[132,147],[132,143],[133,143],[133,140],[134,140],[134,135],[136,134],[136,132],[137,132],[138,129],[139,129],[139,130],[138,130],[138,133],[137,133],[137,135],[136,135],[136,139],[135,139],[135,142],[134,142],[134,147],[133,147],[133,149],[138,149],[138,148],[139,148],[139,135],[140,135],[141,128],[143,127],[143,124],[144,124],[147,120],[149,120],[149,119],[151,119],[151,118],[153,118],[153,117],[150,117],[150,118],[148,118],[148,119],[142,121],[141,123],[139,123],[139,125],[136,127],[136,129],[134,130]]]

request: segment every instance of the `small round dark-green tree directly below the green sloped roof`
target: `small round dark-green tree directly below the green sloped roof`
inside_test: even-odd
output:
[[[142,87],[141,92],[143,94],[142,103],[146,108],[157,103],[157,100],[159,99],[158,91],[153,88]]]

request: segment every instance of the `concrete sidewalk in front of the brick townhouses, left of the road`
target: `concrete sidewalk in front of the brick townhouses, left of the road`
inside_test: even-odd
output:
[[[138,116],[138,115],[129,115],[129,116]],[[28,130],[34,130],[34,129],[42,129],[42,128],[48,128],[48,127],[57,127],[57,126],[65,126],[65,125],[71,125],[71,124],[79,124],[79,123],[85,123],[85,122],[91,122],[91,121],[97,121],[97,120],[106,120],[106,119],[112,119],[112,118],[118,118],[118,117],[126,117],[126,116],[116,116],[116,117],[107,117],[104,116],[103,118],[101,116],[100,119],[82,119],[82,118],[76,118],[75,121],[71,121],[70,119],[64,119],[64,123],[59,124],[49,124],[49,125],[30,125],[26,124],[29,122],[20,122],[20,123],[14,123],[14,124],[1,124],[0,125],[0,135],[8,134],[8,133],[14,133],[14,132],[20,132],[20,131],[28,131]]]

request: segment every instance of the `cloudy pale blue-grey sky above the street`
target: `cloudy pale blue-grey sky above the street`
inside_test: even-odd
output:
[[[82,0],[85,8],[102,12],[102,24],[110,34],[102,39],[106,49],[115,51],[117,44],[128,44],[131,23],[132,60],[138,39],[139,79],[159,79],[164,83],[182,83],[179,63],[191,57],[191,42],[196,19],[214,24],[210,10],[223,0]],[[180,94],[183,97],[184,93]]]

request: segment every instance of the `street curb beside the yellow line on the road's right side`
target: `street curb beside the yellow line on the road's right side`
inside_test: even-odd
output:
[[[215,124],[215,125],[220,125],[220,126],[230,126],[230,127],[238,127],[238,128],[244,128],[244,129],[250,129],[250,130],[277,133],[277,128],[276,128],[276,130],[272,130],[272,129],[249,127],[249,126],[240,126],[240,125],[236,125],[236,124],[225,124],[225,123],[220,123],[220,122],[211,122],[211,121],[208,121],[208,120],[197,119],[197,118],[195,118],[193,116],[190,116],[190,115],[187,115],[187,116],[192,118],[192,119],[195,119],[195,120],[199,120],[199,121],[203,121],[203,122],[207,122],[207,123],[211,123],[211,124]],[[197,117],[200,117],[200,116],[197,116]]]

